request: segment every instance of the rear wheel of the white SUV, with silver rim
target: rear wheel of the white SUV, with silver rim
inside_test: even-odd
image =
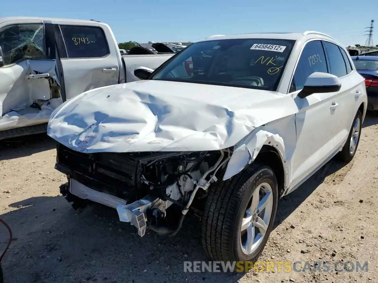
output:
[[[361,137],[362,129],[362,114],[361,111],[357,111],[356,116],[352,123],[352,128],[349,131],[349,135],[342,150],[337,155],[339,160],[350,162],[356,154],[359,138]]]

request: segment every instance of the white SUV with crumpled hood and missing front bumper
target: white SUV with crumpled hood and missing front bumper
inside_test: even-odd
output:
[[[51,115],[60,191],[140,236],[197,215],[213,260],[256,260],[277,200],[335,155],[352,160],[366,114],[364,78],[320,32],[216,35],[135,75]]]

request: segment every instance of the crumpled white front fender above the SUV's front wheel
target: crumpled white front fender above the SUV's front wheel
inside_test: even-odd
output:
[[[234,146],[234,152],[223,175],[227,180],[253,163],[264,145],[275,148],[280,155],[284,170],[284,188],[290,184],[290,164],[296,145],[295,115],[282,118],[269,125],[254,129]]]

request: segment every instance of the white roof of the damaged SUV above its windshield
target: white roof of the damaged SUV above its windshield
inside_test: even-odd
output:
[[[259,32],[251,34],[230,34],[230,35],[211,35],[199,41],[221,40],[221,39],[238,39],[238,38],[275,38],[275,39],[289,39],[299,40],[302,38],[325,38],[332,41],[337,41],[328,34],[318,31],[305,32]]]

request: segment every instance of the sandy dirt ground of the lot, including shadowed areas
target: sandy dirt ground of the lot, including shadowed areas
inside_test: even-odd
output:
[[[70,282],[378,282],[378,118],[368,116],[354,160],[330,161],[280,200],[262,261],[368,261],[368,272],[184,273],[204,258],[200,223],[188,218],[177,237],[140,238],[114,209],[74,211],[59,195],[46,135],[0,142],[1,218],[13,241],[2,261],[6,283]],[[362,236],[362,237],[361,237]],[[0,252],[8,233],[0,227]]]

